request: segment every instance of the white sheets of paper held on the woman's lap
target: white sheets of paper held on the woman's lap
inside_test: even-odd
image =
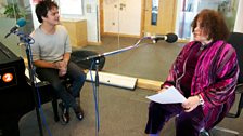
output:
[[[186,97],[174,86],[170,86],[155,95],[146,96],[146,98],[159,104],[176,104],[183,103],[186,100]]]

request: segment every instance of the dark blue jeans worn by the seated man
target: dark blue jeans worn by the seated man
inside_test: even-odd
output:
[[[66,108],[78,108],[75,97],[79,96],[79,92],[86,80],[86,73],[80,67],[73,62],[67,64],[65,78],[69,78],[72,81],[69,92],[65,84],[62,83],[63,79],[59,77],[59,69],[37,68],[36,73],[41,81],[48,81],[52,85],[54,93],[64,101]]]

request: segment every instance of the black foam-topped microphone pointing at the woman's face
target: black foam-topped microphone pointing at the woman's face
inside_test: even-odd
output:
[[[177,35],[175,33],[167,33],[167,35],[158,35],[158,36],[153,36],[151,37],[153,40],[153,43],[157,43],[159,40],[165,40],[168,43],[174,43],[178,40]]]

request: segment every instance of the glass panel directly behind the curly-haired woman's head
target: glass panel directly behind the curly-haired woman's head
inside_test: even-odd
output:
[[[191,22],[203,9],[213,9],[220,12],[228,25],[230,31],[233,31],[236,16],[239,0],[180,0],[178,12],[178,29],[176,30],[179,38],[190,40]]]

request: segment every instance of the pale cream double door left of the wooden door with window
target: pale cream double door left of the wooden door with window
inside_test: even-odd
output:
[[[103,0],[103,33],[140,37],[142,0]]]

